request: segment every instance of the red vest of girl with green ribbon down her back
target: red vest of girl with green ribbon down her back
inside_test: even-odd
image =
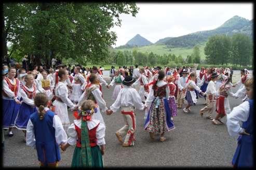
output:
[[[99,126],[99,124],[97,126],[93,127],[91,130],[88,129],[90,147],[97,146],[96,130],[97,130],[97,127]],[[76,141],[76,147],[80,148],[82,146],[81,145],[81,129],[77,125],[75,125],[75,130],[76,130],[77,136],[78,136],[78,139]]]

